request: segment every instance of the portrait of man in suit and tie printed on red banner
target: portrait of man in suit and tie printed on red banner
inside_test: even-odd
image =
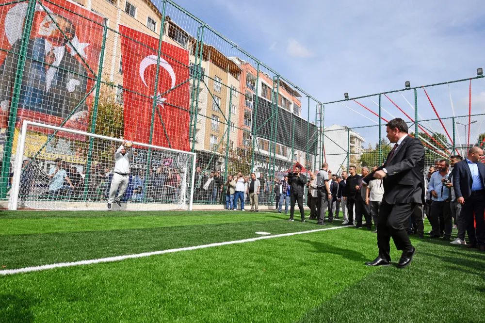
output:
[[[63,16],[50,14],[37,25],[34,35],[27,48],[18,108],[45,113],[46,119],[64,119],[86,95],[87,71],[76,59],[76,52],[66,47],[68,39],[76,35],[76,26]],[[0,66],[0,106],[4,114],[11,104],[20,47],[18,39]],[[83,102],[76,112],[87,110]]]

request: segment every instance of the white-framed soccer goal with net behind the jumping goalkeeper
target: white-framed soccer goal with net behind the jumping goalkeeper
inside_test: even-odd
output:
[[[122,143],[24,121],[14,140],[9,210],[107,210]],[[131,149],[128,186],[111,210],[192,210],[196,155],[137,142]]]

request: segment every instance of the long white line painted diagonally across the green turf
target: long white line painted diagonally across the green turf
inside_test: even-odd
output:
[[[343,228],[343,227],[349,227],[349,226],[334,226],[334,227],[327,227],[327,228],[324,228],[324,229],[276,234],[274,236],[262,236],[262,237],[244,239],[244,240],[235,240],[235,241],[202,244],[202,245],[196,245],[196,246],[193,246],[193,247],[144,252],[144,253],[135,254],[135,255],[125,255],[125,256],[116,256],[116,257],[99,258],[99,259],[91,259],[91,260],[81,260],[81,261],[74,261],[74,262],[60,262],[60,263],[55,263],[55,264],[50,264],[50,265],[42,265],[42,266],[35,266],[35,267],[7,269],[7,270],[0,270],[0,275],[14,275],[14,274],[19,274],[19,273],[39,272],[39,271],[42,271],[42,270],[53,269],[53,268],[91,265],[91,264],[95,264],[95,263],[121,261],[121,260],[131,259],[131,258],[143,258],[143,257],[150,257],[150,256],[155,256],[155,255],[170,254],[170,253],[179,252],[179,251],[197,250],[197,249],[204,249],[204,248],[209,248],[209,247],[218,247],[218,246],[221,246],[221,245],[228,245],[228,244],[255,242],[255,241],[263,240],[263,239],[289,237],[289,236],[294,236],[294,235],[297,235],[297,234],[306,234],[306,233],[320,232],[320,231],[326,231],[326,230],[334,230],[334,229],[340,229],[340,228]]]

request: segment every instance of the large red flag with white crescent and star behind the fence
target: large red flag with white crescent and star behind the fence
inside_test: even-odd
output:
[[[120,25],[123,104],[127,140],[149,143],[153,101],[152,145],[190,150],[189,51]],[[158,86],[155,81],[158,69]]]

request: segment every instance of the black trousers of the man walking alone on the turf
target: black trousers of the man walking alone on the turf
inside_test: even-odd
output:
[[[389,255],[391,237],[398,250],[410,250],[413,247],[404,225],[408,223],[415,207],[416,203],[388,204],[382,200],[377,225],[377,247],[381,258],[391,260]]]

